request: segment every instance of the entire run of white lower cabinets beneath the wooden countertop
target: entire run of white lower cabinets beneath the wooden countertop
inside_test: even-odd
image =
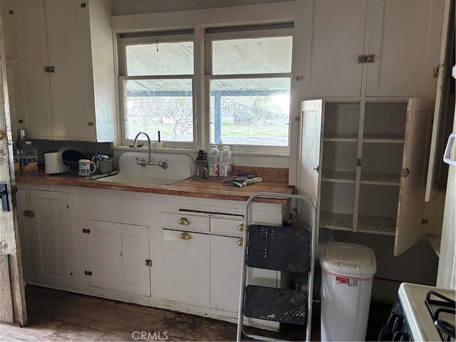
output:
[[[236,320],[242,203],[21,187],[19,234],[27,282]],[[43,190],[47,188],[56,191]],[[279,225],[283,213],[281,204],[261,203],[252,209],[252,222]],[[280,281],[277,271],[247,273],[247,284],[278,287]],[[276,330],[272,323],[246,320]]]

